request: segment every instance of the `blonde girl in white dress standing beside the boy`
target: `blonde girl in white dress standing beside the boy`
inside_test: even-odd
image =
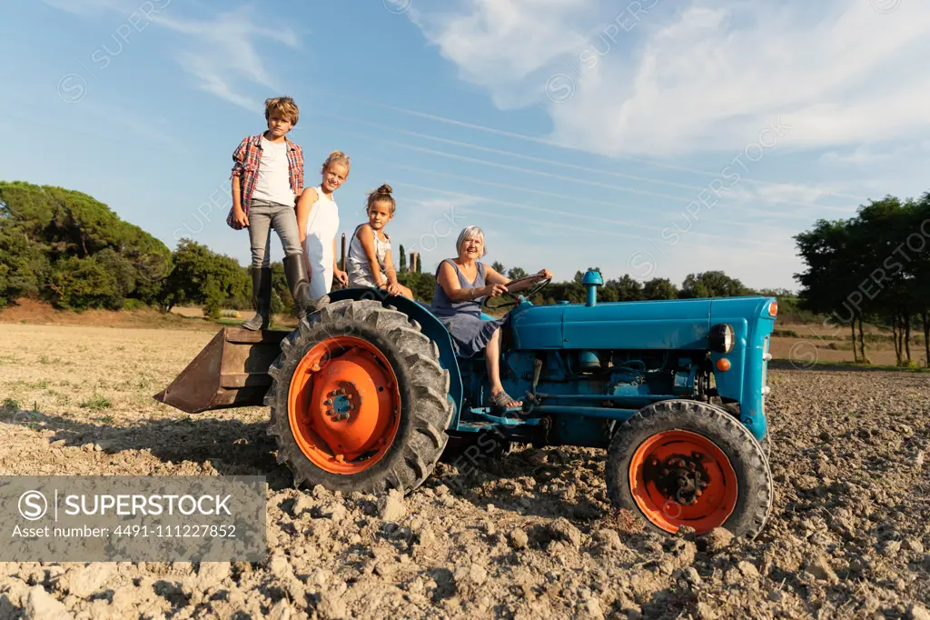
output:
[[[303,255],[310,274],[310,294],[315,299],[326,295],[333,285],[333,276],[344,285],[349,283],[346,272],[339,269],[336,259],[336,234],[339,232],[339,209],[333,192],[349,178],[349,156],[333,151],[323,162],[323,179],[316,187],[308,187],[297,203],[297,222]]]

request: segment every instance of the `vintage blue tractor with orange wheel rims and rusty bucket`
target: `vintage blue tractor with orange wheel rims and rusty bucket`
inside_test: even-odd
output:
[[[752,538],[773,502],[765,396],[768,297],[511,306],[501,381],[522,407],[485,407],[483,358],[456,357],[428,305],[336,290],[287,331],[226,328],[155,396],[182,411],[264,404],[295,482],[410,492],[443,452],[512,442],[606,450],[611,503],[674,533]],[[485,305],[490,308],[492,306]]]

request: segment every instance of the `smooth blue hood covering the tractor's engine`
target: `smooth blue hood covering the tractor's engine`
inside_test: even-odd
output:
[[[766,317],[766,297],[650,302],[523,303],[512,312],[518,349],[708,349],[711,325],[750,327]],[[747,331],[744,329],[743,333]]]

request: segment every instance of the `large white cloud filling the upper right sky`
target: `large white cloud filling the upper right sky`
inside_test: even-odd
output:
[[[591,56],[591,16],[604,11],[594,0],[472,0],[413,19],[499,106],[542,103],[553,139],[604,155],[741,150],[778,115],[790,126],[779,148],[912,138],[930,128],[930,3],[901,3],[890,14],[846,0],[659,5],[613,46],[601,45],[603,57]],[[587,65],[579,63],[586,47]],[[544,91],[556,73],[573,82],[561,103]]]

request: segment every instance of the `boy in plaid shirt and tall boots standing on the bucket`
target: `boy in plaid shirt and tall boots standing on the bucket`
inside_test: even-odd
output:
[[[299,110],[290,97],[265,101],[268,131],[248,136],[233,153],[233,209],[226,223],[248,228],[252,248],[252,301],[256,314],[243,322],[246,330],[265,330],[271,322],[272,269],[269,243],[272,228],[285,250],[285,276],[299,319],[329,303],[324,295],[312,300],[307,265],[300,247],[295,205],[303,192],[303,150],[287,139],[297,125]]]

